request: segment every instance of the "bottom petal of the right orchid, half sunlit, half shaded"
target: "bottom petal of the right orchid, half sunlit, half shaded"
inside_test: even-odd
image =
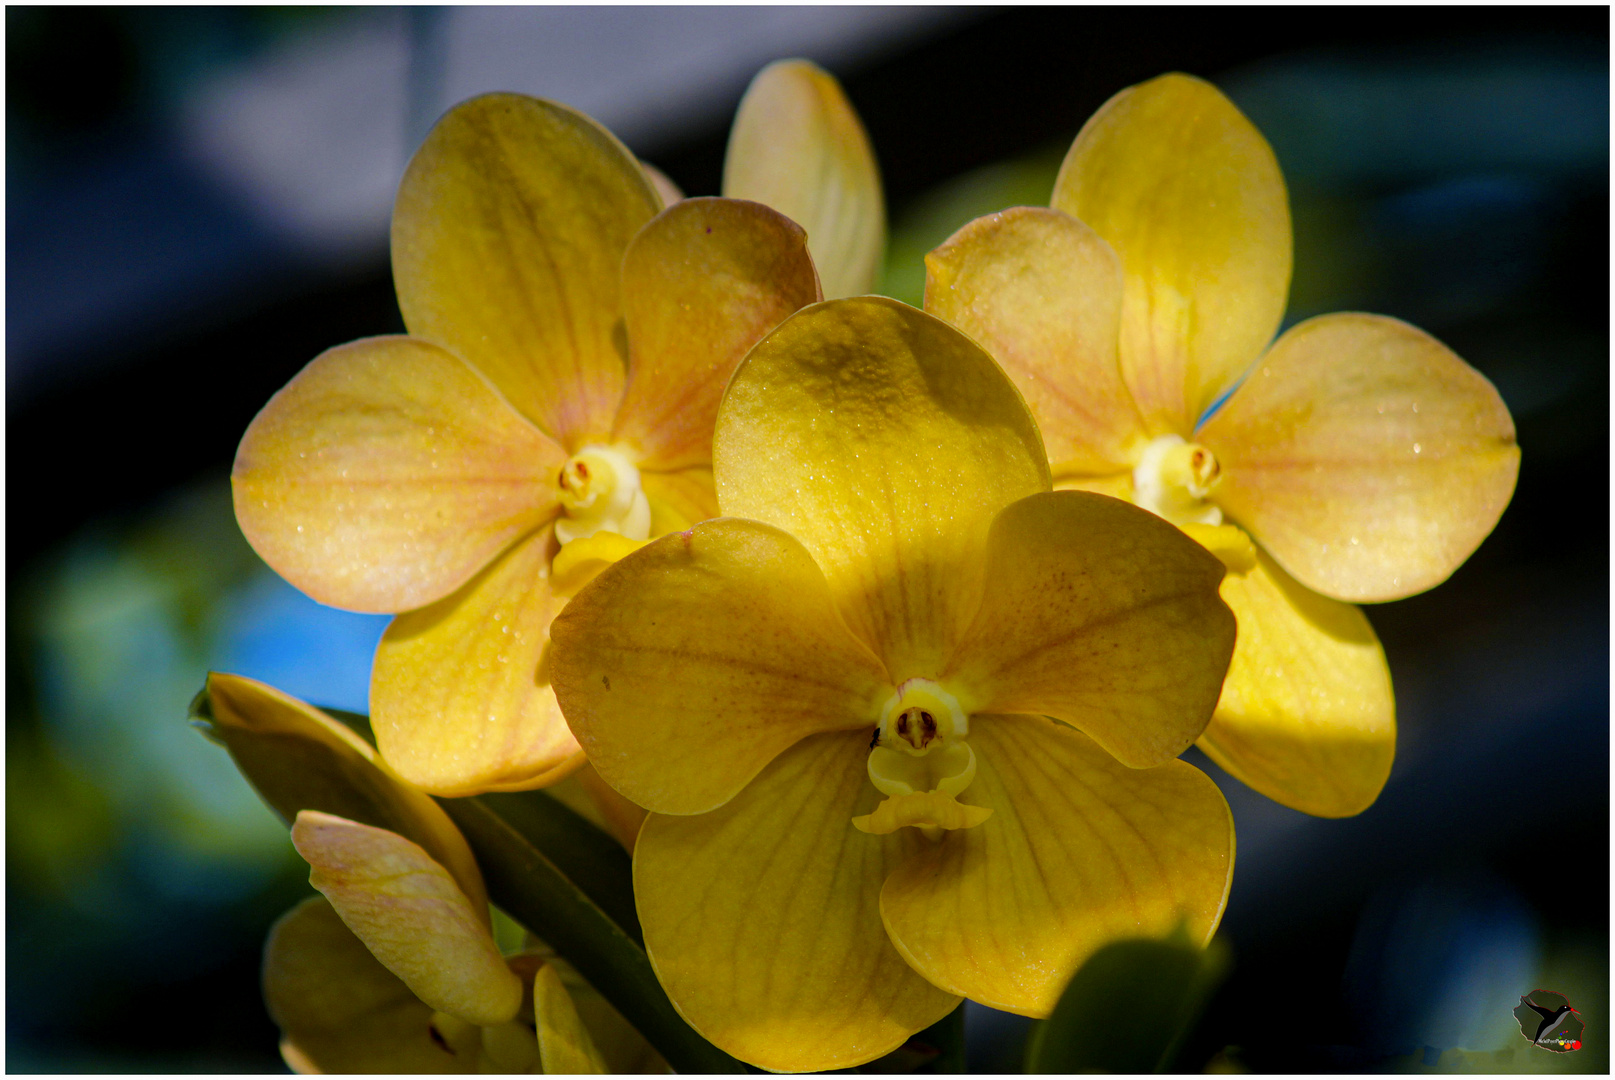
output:
[[[1239,643],[1200,747],[1269,799],[1321,817],[1360,814],[1395,756],[1386,654],[1363,612],[1318,596],[1256,550],[1223,599]]]

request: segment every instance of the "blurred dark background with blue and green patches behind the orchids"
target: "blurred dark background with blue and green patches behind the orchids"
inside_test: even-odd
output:
[[[591,113],[715,194],[769,60],[841,77],[893,221],[883,291],[1047,203],[1082,121],[1213,79],[1290,186],[1289,321],[1405,318],[1486,373],[1513,505],[1444,586],[1370,609],[1397,765],[1357,818],[1227,781],[1234,975],[1192,1061],[1609,1070],[1607,8],[6,8],[6,1067],[283,1069],[257,986],[307,869],[184,723],[207,668],[363,709],[384,618],[245,547],[241,433],[325,347],[402,329],[392,189],[455,100]],[[1565,993],[1586,1048],[1510,1009]],[[1024,1023],[972,1011],[972,1067]]]

